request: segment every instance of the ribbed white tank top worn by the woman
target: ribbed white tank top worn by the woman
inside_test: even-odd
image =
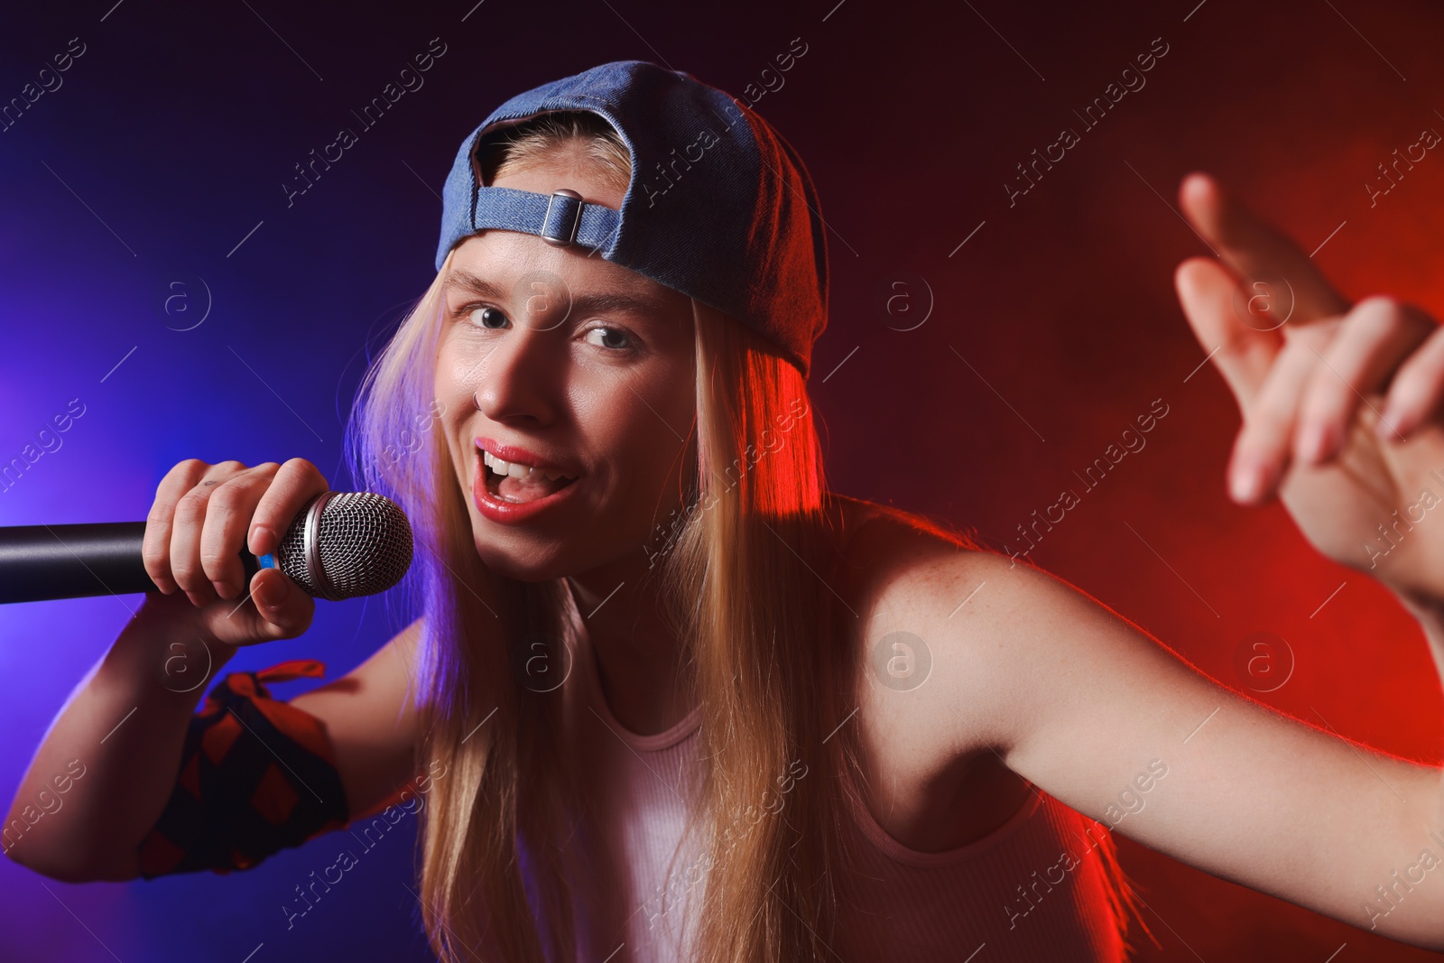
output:
[[[682,924],[706,885],[699,850],[682,839],[700,778],[700,709],[657,735],[627,731],[606,706],[586,632],[578,635],[566,683],[578,687],[572,762],[585,800],[566,843],[578,963],[689,960],[696,923],[684,934]],[[861,804],[852,826],[859,865],[839,873],[829,941],[848,963],[1123,959],[1102,853],[1113,843],[1045,793],[988,836],[940,853],[902,846]]]

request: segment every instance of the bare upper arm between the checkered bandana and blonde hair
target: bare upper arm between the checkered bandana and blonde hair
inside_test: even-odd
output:
[[[407,625],[345,676],[290,700],[325,723],[351,819],[381,807],[416,775],[420,725],[414,679],[422,622]]]

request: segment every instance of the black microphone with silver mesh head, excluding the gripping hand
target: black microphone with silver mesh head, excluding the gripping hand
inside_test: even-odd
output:
[[[144,521],[0,527],[0,603],[159,592],[146,573]],[[241,547],[247,582],[280,569],[331,601],[384,592],[412,566],[412,524],[374,492],[328,491],[308,501],[273,554]]]

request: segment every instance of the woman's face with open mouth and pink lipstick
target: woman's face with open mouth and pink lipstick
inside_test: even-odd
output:
[[[494,185],[622,201],[565,159]],[[530,582],[644,559],[692,469],[692,302],[501,230],[458,245],[443,297],[436,398],[482,560]]]

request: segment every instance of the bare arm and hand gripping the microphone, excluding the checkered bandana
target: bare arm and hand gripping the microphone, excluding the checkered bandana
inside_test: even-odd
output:
[[[175,788],[192,715],[238,645],[300,635],[312,599],[276,569],[247,585],[240,547],[273,552],[326,482],[286,465],[180,462],[146,521],[144,596],[105,657],[77,686],[16,791],[6,855],[65,881],[131,879],[136,849]],[[416,625],[345,679],[297,697],[336,748],[352,813],[406,780],[414,746],[410,679]],[[195,680],[195,681],[192,681]]]

